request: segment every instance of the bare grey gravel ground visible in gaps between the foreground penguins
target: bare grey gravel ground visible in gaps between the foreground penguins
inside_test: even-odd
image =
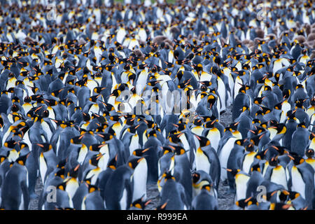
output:
[[[229,125],[230,123],[232,123],[232,109],[231,107],[228,108],[225,113],[221,114],[220,117],[220,123],[225,127],[227,125]],[[148,204],[148,206],[146,207],[146,210],[153,210],[156,207],[158,207],[158,205],[160,205],[160,195],[159,195],[159,191],[158,191],[158,186],[156,185],[148,185],[147,186],[147,197],[148,200],[151,200],[151,202]],[[41,179],[38,178],[37,179],[37,183],[36,183],[36,188],[35,188],[35,193],[36,195],[41,195],[41,191],[43,190],[43,184],[41,183]],[[220,210],[227,210],[229,209],[232,204],[234,203],[234,194],[231,194],[229,192],[229,187],[228,184],[225,183],[220,183],[219,185],[219,189],[218,189],[218,207]],[[31,200],[31,202],[29,203],[29,210],[37,210],[38,204],[38,198]]]

